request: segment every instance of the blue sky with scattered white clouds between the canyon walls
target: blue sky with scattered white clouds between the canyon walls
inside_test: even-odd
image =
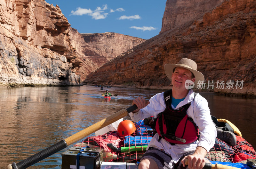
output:
[[[45,0],[60,7],[79,33],[116,32],[150,39],[159,34],[166,0]]]

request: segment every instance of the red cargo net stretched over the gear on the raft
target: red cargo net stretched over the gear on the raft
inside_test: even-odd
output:
[[[129,136],[119,137],[117,131],[110,131],[103,135],[87,137],[75,146],[82,148],[88,145],[93,149],[102,149],[101,161],[136,163],[146,152],[153,130],[143,121],[135,123],[135,127],[135,132]],[[235,146],[216,138],[207,156],[211,161],[246,163],[247,158],[256,159],[256,152],[244,138],[236,136]]]

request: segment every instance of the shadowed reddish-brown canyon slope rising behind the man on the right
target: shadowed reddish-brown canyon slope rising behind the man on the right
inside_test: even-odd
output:
[[[206,80],[205,88],[199,90],[256,95],[255,11],[255,1],[225,1],[202,17],[135,46],[88,75],[84,82],[167,89],[171,81],[164,73],[164,64],[189,58],[196,61]],[[217,86],[218,81],[225,82],[224,88]],[[236,89],[236,81],[239,85],[243,81],[243,87]],[[213,89],[206,89],[208,82],[213,82]]]

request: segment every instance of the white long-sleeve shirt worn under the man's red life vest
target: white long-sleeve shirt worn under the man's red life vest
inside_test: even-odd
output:
[[[195,99],[194,99],[195,98]],[[166,108],[164,102],[164,92],[158,93],[150,98],[148,106],[143,109],[140,109],[137,113],[129,113],[132,118],[132,121],[138,122],[149,116],[154,116],[157,118],[157,115],[164,111]],[[190,144],[175,144],[171,145],[165,139],[160,139],[158,142],[159,135],[156,133],[155,136],[151,139],[148,147],[155,147],[158,149],[163,149],[167,154],[169,154],[173,161],[177,163],[180,157],[189,151],[195,151],[197,146],[204,147],[207,152],[213,147],[215,143],[215,138],[217,136],[217,131],[214,123],[212,122],[212,117],[210,115],[210,109],[208,108],[208,103],[204,97],[197,94],[194,97],[193,90],[188,91],[188,95],[183,101],[181,101],[176,108],[178,109],[181,106],[191,102],[191,105],[188,107],[187,115],[193,119],[196,125],[199,128],[200,138]]]

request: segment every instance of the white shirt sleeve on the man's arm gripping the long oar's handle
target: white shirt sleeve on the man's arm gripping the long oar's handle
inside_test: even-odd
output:
[[[157,115],[164,111],[165,102],[164,102],[164,92],[158,93],[149,99],[149,104],[143,109],[140,109],[137,113],[129,113],[132,121],[139,122],[144,118],[148,118],[150,116],[157,117]]]

